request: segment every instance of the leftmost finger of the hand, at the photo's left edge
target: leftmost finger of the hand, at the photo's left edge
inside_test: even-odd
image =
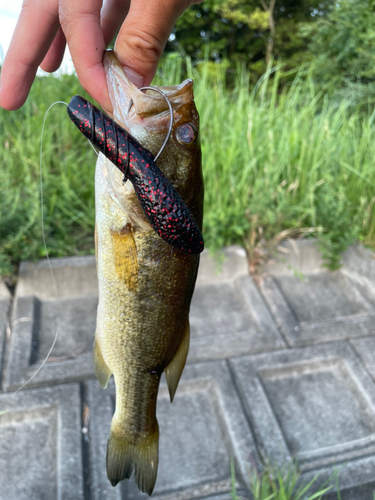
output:
[[[58,0],[24,2],[1,70],[0,106],[22,106],[57,30]]]

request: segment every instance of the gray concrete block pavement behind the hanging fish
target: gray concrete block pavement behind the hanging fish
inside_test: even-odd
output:
[[[334,273],[311,241],[284,242],[254,280],[239,247],[203,254],[188,363],[158,398],[158,500],[251,499],[249,471],[298,460],[302,481],[375,492],[375,255],[354,246]],[[0,282],[0,500],[141,500],[112,488],[105,452],[114,384],[97,383],[94,257],[23,263]],[[58,340],[40,372],[53,339]],[[337,498],[336,494],[327,497]]]

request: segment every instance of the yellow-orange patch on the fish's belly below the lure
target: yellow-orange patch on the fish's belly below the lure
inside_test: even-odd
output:
[[[116,274],[134,292],[138,289],[138,258],[132,226],[126,224],[119,232],[111,230],[111,235]]]

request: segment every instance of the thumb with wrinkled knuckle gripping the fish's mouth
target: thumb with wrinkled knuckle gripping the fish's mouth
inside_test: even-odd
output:
[[[129,79],[138,87],[151,83],[168,37],[189,0],[132,0],[115,51]]]

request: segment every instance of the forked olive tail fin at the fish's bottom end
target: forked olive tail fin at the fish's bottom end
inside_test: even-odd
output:
[[[129,479],[134,468],[138,488],[151,495],[158,471],[158,448],[158,425],[153,434],[136,442],[130,442],[123,434],[111,430],[107,444],[107,475],[112,486]]]

